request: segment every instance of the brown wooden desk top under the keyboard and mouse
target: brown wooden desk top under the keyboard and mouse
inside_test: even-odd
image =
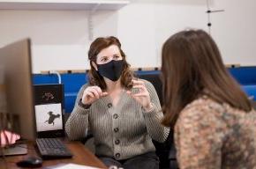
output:
[[[99,168],[107,168],[103,165],[102,161],[94,156],[94,154],[87,150],[87,148],[79,142],[64,142],[68,149],[72,151],[73,158],[67,159],[50,159],[50,160],[43,160],[42,167],[49,166],[49,165],[57,165],[61,163],[74,163],[78,165],[90,165]],[[21,155],[21,156],[8,156],[6,157],[6,167],[4,167],[4,159],[0,158],[0,168],[1,169],[18,169],[16,162],[26,158],[27,156],[38,156],[36,152],[36,148],[34,147],[34,142],[27,143],[28,147],[28,154]]]

